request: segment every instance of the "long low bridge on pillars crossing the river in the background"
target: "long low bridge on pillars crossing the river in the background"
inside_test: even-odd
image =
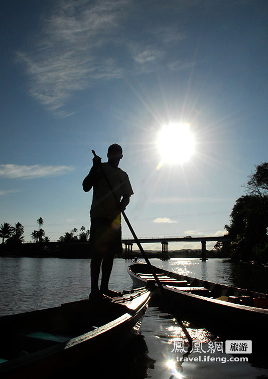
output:
[[[214,236],[214,237],[163,237],[163,238],[139,238],[141,244],[158,242],[162,244],[162,260],[168,259],[168,244],[169,242],[201,242],[201,259],[206,260],[206,243],[209,241],[231,241],[227,236]],[[122,243],[125,245],[125,257],[132,256],[132,246],[135,244],[134,239],[123,239]]]

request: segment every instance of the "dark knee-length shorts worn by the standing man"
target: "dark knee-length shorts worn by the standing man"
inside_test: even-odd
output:
[[[91,218],[90,248],[93,254],[122,256],[121,225],[117,224],[115,228],[111,220]]]

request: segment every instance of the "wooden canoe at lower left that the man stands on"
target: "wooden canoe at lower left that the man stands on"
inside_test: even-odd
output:
[[[0,377],[51,377],[62,368],[94,358],[123,339],[143,317],[151,296],[146,288],[111,301],[80,300],[0,317]]]

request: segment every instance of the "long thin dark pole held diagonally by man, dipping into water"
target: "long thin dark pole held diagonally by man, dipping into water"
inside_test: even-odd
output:
[[[94,150],[91,150],[91,151],[92,151],[92,153],[93,153],[94,156],[97,156]],[[112,188],[112,186],[111,186],[111,184],[110,184],[110,182],[109,182],[109,180],[108,180],[108,178],[107,178],[107,175],[106,175],[105,172],[103,171],[101,165],[100,165],[100,170],[101,170],[101,172],[102,172],[102,174],[103,174],[103,176],[104,176],[104,179],[105,179],[105,181],[106,181],[106,183],[107,183],[107,185],[108,185],[108,187],[109,187],[109,189],[110,189],[110,191],[111,191],[111,193],[112,193],[114,199],[116,200],[116,202],[118,202],[118,200],[117,200],[117,198],[116,198],[116,195],[115,195],[115,193],[114,193],[114,191],[113,191],[113,188]],[[132,228],[132,226],[131,226],[131,224],[130,224],[128,218],[126,217],[126,214],[124,213],[124,211],[121,211],[121,214],[123,215],[124,221],[126,222],[126,225],[128,226],[128,228],[129,228],[129,230],[130,230],[130,232],[131,232],[131,234],[132,234],[132,236],[133,236],[133,239],[135,240],[136,244],[138,245],[138,247],[139,247],[139,249],[140,249],[140,251],[141,251],[141,253],[142,253],[143,258],[145,259],[146,263],[147,263],[148,266],[150,267],[150,270],[151,270],[151,272],[152,272],[152,274],[153,274],[153,276],[154,276],[154,278],[155,278],[156,283],[158,284],[158,287],[160,288],[160,291],[161,291],[161,293],[162,293],[164,299],[169,303],[169,305],[170,305],[170,307],[171,307],[171,309],[172,309],[172,313],[174,313],[174,314],[176,315],[176,314],[177,314],[177,311],[175,310],[175,307],[174,307],[174,305],[173,305],[171,299],[170,299],[170,298],[167,299],[166,294],[168,294],[168,293],[165,293],[165,289],[164,289],[162,283],[160,282],[160,280],[159,280],[159,278],[158,278],[158,276],[157,276],[157,274],[156,274],[155,268],[154,268],[154,266],[152,266],[152,264],[151,264],[151,262],[149,261],[147,255],[145,254],[145,251],[144,251],[144,249],[143,249],[143,247],[142,247],[142,245],[141,245],[141,243],[140,243],[138,237],[136,236],[136,233],[135,233],[135,231],[133,230],[133,228]],[[185,325],[182,323],[181,320],[178,319],[177,315],[176,315],[176,318],[177,318],[177,321],[178,321],[180,327],[182,328],[184,334],[186,335],[186,338],[188,339],[188,342],[189,342],[188,352],[189,352],[189,351],[192,349],[192,347],[193,347],[193,339],[192,339],[192,337],[190,336],[190,334],[189,334],[188,330],[186,329]]]

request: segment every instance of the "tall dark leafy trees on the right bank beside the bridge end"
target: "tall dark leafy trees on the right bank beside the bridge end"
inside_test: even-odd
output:
[[[236,200],[225,225],[230,242],[217,242],[215,249],[232,260],[268,263],[268,163],[256,166],[243,185],[246,194]]]

